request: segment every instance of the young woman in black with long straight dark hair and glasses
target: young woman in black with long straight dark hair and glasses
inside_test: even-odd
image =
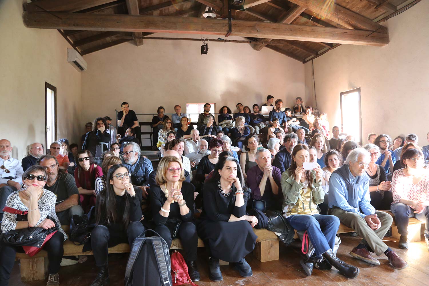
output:
[[[130,173],[122,164],[114,165],[107,173],[107,186],[97,196],[96,226],[91,232],[98,274],[91,286],[109,283],[108,247],[122,242],[131,246],[145,231],[142,220],[142,190],[130,183]]]

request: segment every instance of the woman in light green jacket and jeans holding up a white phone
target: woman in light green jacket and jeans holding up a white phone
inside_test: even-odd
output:
[[[314,246],[314,255],[301,260],[301,265],[307,276],[311,275],[314,266],[320,270],[334,266],[347,278],[354,278],[359,274],[359,269],[341,261],[332,251],[340,221],[338,217],[322,215],[317,210],[317,204],[323,202],[325,195],[322,189],[323,171],[318,164],[308,170],[309,157],[307,146],[296,145],[290,168],[281,175],[283,216],[293,229],[307,231]]]

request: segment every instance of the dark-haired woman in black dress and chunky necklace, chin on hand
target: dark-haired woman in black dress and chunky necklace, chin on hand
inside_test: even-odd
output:
[[[203,187],[203,208],[198,236],[209,251],[209,274],[213,281],[223,279],[219,259],[236,262],[243,277],[252,276],[244,258],[255,247],[257,236],[252,227],[258,220],[246,215],[250,189],[245,185],[240,164],[234,157],[222,157]]]

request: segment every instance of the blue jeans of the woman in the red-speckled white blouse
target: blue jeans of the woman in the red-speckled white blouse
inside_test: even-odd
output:
[[[421,214],[415,214],[415,210],[408,205],[396,203],[390,206],[390,211],[395,215],[399,234],[408,235],[408,218],[415,217],[417,220],[426,221],[425,237],[429,238],[429,207],[426,207]]]

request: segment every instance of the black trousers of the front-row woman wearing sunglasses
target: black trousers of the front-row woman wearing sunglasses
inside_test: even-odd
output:
[[[60,270],[61,259],[63,259],[64,235],[61,232],[55,232],[49,239],[43,249],[48,252],[48,273],[57,274]],[[12,246],[9,244],[0,244],[0,285],[7,286],[9,283],[10,273],[15,263],[17,252],[23,253],[24,250],[20,246]]]

